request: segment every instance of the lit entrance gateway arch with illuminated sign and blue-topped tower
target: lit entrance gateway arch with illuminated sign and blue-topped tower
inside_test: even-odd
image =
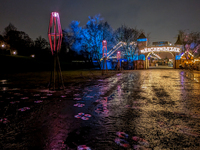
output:
[[[180,45],[171,46],[169,42],[153,42],[154,46],[147,46],[147,38],[146,36],[142,33],[138,39],[138,55],[143,55],[145,56],[145,59],[142,60],[136,60],[134,62],[135,64],[135,69],[148,69],[149,68],[149,60],[148,57],[151,54],[156,55],[156,53],[160,52],[168,52],[172,55],[173,58],[173,68],[176,69],[176,55],[180,55],[181,49]],[[155,44],[157,43],[157,44]],[[139,57],[142,58],[142,57]]]

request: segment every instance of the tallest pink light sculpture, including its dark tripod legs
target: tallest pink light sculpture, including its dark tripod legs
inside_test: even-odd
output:
[[[49,30],[48,30],[48,37],[49,37],[49,43],[51,47],[51,53],[54,59],[54,67],[53,67],[53,74],[51,71],[51,77],[50,77],[50,83],[49,83],[49,89],[51,89],[52,84],[52,78],[53,78],[53,90],[55,90],[55,84],[56,84],[56,71],[57,71],[57,80],[58,80],[58,88],[60,89],[60,80],[61,80],[61,86],[64,89],[64,83],[62,78],[62,72],[60,67],[60,61],[58,57],[58,52],[61,48],[62,43],[62,29],[60,24],[60,17],[58,12],[52,12],[49,22]]]

